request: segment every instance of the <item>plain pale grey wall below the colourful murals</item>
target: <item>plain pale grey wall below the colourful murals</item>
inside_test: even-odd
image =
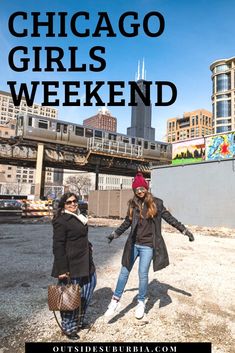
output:
[[[156,167],[151,187],[184,224],[235,228],[235,160]]]

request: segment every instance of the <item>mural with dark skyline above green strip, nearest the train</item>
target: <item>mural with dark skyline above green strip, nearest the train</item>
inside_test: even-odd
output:
[[[204,138],[172,144],[172,164],[197,163],[205,160]]]

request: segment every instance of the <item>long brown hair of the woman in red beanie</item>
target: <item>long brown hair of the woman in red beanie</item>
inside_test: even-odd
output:
[[[147,191],[145,198],[144,198],[144,203],[147,206],[147,213],[146,213],[146,217],[148,219],[151,219],[153,217],[156,216],[157,214],[157,205],[153,200],[153,195]],[[129,219],[132,221],[133,219],[133,210],[134,208],[139,209],[140,211],[140,220],[143,219],[143,215],[142,215],[142,203],[143,201],[141,199],[139,199],[136,195],[128,201],[128,211],[127,214],[129,216]]]

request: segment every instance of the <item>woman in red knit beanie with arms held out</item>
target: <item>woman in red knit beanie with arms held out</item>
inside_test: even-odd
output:
[[[119,309],[119,300],[123,294],[130,271],[139,257],[139,293],[135,317],[142,319],[148,287],[148,272],[151,260],[153,270],[158,271],[169,265],[165,242],[161,234],[161,219],[181,233],[194,240],[193,234],[163,205],[163,201],[153,197],[148,191],[148,183],[142,173],[137,173],[132,183],[134,197],[129,201],[127,216],[119,228],[107,236],[109,243],[131,227],[122,256],[122,268],[116,289],[105,316],[112,316]]]

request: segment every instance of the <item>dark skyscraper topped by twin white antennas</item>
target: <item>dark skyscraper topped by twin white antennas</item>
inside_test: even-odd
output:
[[[138,63],[138,73],[136,82],[143,94],[145,95],[145,79],[146,73],[144,61],[142,64],[142,74],[140,75],[140,63]],[[146,106],[139,95],[136,93],[136,106],[131,109],[131,126],[127,128],[127,135],[142,137],[146,140],[155,140],[155,129],[151,127],[152,119],[152,104]]]

